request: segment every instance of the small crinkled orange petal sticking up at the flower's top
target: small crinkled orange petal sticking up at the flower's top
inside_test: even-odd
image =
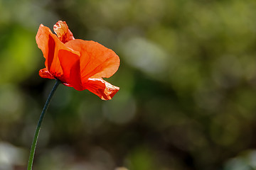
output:
[[[58,39],[63,43],[68,42],[69,40],[75,40],[73,33],[68,29],[68,25],[65,21],[58,21],[53,26],[53,30],[57,34]]]

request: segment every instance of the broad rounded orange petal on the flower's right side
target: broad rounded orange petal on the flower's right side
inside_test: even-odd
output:
[[[76,39],[68,41],[65,45],[80,52],[82,82],[90,77],[108,78],[117,72],[119,57],[114,51],[98,42]]]

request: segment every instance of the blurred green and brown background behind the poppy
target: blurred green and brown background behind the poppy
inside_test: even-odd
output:
[[[26,169],[55,81],[41,23],[119,55],[112,101],[60,86],[37,170],[256,169],[255,0],[0,0],[0,170]]]

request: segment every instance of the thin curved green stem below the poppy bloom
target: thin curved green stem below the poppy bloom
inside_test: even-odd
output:
[[[41,125],[42,125],[42,121],[43,121],[43,117],[44,115],[46,114],[46,111],[47,111],[47,108],[50,104],[50,100],[51,98],[53,97],[53,94],[55,92],[55,90],[57,89],[58,85],[60,84],[60,81],[57,79],[54,86],[53,86],[53,89],[50,91],[50,94],[47,98],[47,101],[46,101],[46,104],[45,106],[43,107],[43,111],[40,115],[40,118],[38,120],[38,125],[36,127],[36,132],[35,132],[35,135],[33,137],[33,142],[32,142],[32,145],[31,145],[31,152],[29,154],[29,159],[28,159],[28,170],[31,170],[32,169],[32,165],[33,165],[33,158],[35,156],[35,150],[36,150],[36,143],[38,141],[38,135],[39,135],[39,132],[40,132],[40,129],[41,129]]]

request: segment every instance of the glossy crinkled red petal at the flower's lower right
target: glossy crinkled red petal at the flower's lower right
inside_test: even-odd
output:
[[[99,96],[102,100],[110,100],[119,91],[119,87],[113,86],[103,79],[88,79],[85,84],[87,90]]]

